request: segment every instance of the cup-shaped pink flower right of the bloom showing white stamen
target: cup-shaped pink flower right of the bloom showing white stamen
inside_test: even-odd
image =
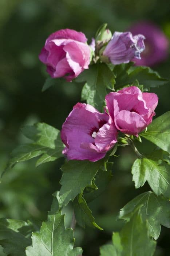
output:
[[[116,128],[126,134],[135,135],[145,129],[155,116],[158,96],[142,93],[138,87],[126,87],[117,93],[106,95],[108,112]]]

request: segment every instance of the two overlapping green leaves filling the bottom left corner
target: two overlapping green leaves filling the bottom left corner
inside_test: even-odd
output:
[[[73,230],[66,229],[64,218],[54,195],[48,220],[42,223],[39,231],[30,222],[1,219],[0,241],[4,252],[11,256],[82,255],[81,248],[74,248]]]

